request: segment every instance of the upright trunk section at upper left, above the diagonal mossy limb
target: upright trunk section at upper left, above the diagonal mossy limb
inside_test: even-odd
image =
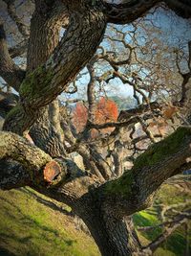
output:
[[[61,26],[68,25],[66,7],[61,2],[59,5],[53,2],[49,4],[48,1],[36,1],[31,20],[27,58],[28,71],[32,71],[47,61],[58,44]]]

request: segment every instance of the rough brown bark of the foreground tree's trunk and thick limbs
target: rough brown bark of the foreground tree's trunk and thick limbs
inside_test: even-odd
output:
[[[159,2],[136,0],[116,5],[92,0],[35,1],[25,79],[9,55],[5,35],[0,34],[0,75],[20,93],[19,104],[6,116],[4,129],[8,131],[0,132],[0,188],[31,185],[42,194],[68,203],[87,224],[104,256],[127,256],[141,250],[127,216],[148,207],[164,180],[190,167],[191,131],[179,128],[141,154],[132,170],[105,182],[111,177],[110,166],[96,147],[87,150],[81,138],[75,144],[72,132],[71,143],[92,174],[66,158],[58,103],[53,101],[94,56],[108,22],[130,23]],[[180,7],[183,17],[191,15],[188,1],[165,2],[175,12]],[[60,26],[67,26],[69,17],[69,26],[58,42]],[[91,66],[89,70],[89,119],[94,121],[95,74]],[[138,117],[115,126],[132,122],[138,123]],[[67,126],[67,120],[63,123]],[[114,127],[114,123],[88,126],[106,128]],[[29,131],[35,146],[17,135]],[[119,159],[116,161],[119,165]]]

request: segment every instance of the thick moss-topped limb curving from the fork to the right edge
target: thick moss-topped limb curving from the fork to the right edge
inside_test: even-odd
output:
[[[190,156],[191,128],[178,128],[140,154],[132,170],[97,189],[102,207],[111,207],[118,217],[145,209],[162,182],[190,168]]]

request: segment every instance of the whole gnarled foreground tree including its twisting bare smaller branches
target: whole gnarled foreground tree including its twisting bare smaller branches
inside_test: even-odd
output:
[[[34,6],[24,1],[26,7],[31,5],[34,8],[30,30],[27,21],[15,12],[14,1],[2,2],[19,36],[9,34],[9,30],[8,34],[15,41],[22,39],[18,45],[9,48],[4,26],[0,25],[0,75],[9,88],[19,93],[19,101],[11,111],[9,107],[4,107],[5,104],[2,105],[7,115],[4,131],[0,133],[0,188],[8,190],[29,185],[44,195],[67,203],[86,223],[102,255],[126,256],[151,252],[155,246],[141,246],[131,215],[152,203],[163,181],[190,168],[191,130],[185,126],[190,117],[189,109],[185,107],[190,104],[190,42],[187,51],[189,58],[186,58],[188,71],[182,72],[180,69],[180,52],[176,50],[174,53],[181,76],[181,97],[173,105],[182,109],[183,120],[181,118],[180,122],[183,126],[157,143],[160,134],[152,134],[147,121],[156,120],[162,115],[161,105],[150,101],[152,93],[149,94],[150,98],[147,97],[141,87],[153,85],[152,92],[156,89],[154,83],[148,81],[146,75],[140,76],[138,70],[132,70],[128,79],[128,73],[122,73],[124,68],[118,68],[130,64],[136,56],[142,60],[141,54],[136,55],[136,48],[129,44],[125,44],[129,51],[127,59],[117,58],[115,53],[107,53],[102,47],[98,53],[96,50],[108,23],[131,24],[161,1],[122,1],[117,4],[101,0],[40,0],[34,1]],[[190,1],[163,2],[180,16],[191,16]],[[66,28],[66,31],[59,41],[61,27]],[[137,31],[134,32],[136,35]],[[124,38],[121,40],[125,43]],[[12,58],[25,55],[26,47],[27,67],[23,70]],[[112,67],[112,73],[109,70],[107,75],[110,76],[105,81],[117,77],[124,84],[131,84],[138,101],[138,107],[121,111],[117,122],[95,123],[95,63],[100,59]],[[145,62],[149,66],[148,58],[145,58]],[[66,109],[59,109],[56,98],[69,89],[86,65],[90,74],[88,119],[84,131],[77,136]],[[98,81],[103,81],[103,78],[99,77]],[[10,92],[7,95],[10,96]],[[138,133],[136,124],[141,127],[143,135],[135,136],[135,131]],[[115,129],[106,138],[100,136],[98,141],[88,142],[86,134],[93,128]],[[124,138],[120,136],[126,128],[128,132],[130,128],[132,130],[127,132],[128,138],[123,143]],[[35,146],[23,138],[29,132]],[[145,137],[153,145],[138,155],[137,143]],[[108,145],[113,147],[107,155],[112,158],[112,162],[99,153],[100,148]],[[134,147],[132,150],[136,159],[133,168],[122,174],[121,157],[124,158],[124,151],[127,154],[127,147],[130,146]],[[73,151],[83,157],[87,172],[80,170],[69,157]]]

